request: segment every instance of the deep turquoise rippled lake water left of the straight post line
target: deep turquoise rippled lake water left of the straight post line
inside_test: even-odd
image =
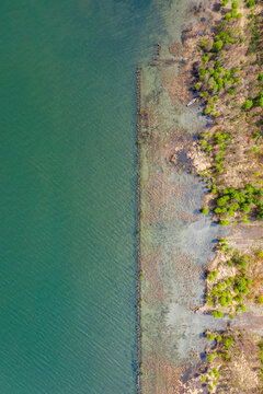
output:
[[[1,1],[1,394],[135,392],[135,71],[168,4]]]

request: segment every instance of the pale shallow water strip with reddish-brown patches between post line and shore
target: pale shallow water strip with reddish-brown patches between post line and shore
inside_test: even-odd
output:
[[[182,104],[180,90],[172,99],[178,69],[164,47],[140,72],[144,394],[172,390],[180,373],[204,357],[204,331],[222,329],[227,322],[194,312],[204,302],[205,267],[215,256],[216,239],[226,230],[201,213],[207,189],[191,173],[187,153],[209,119],[197,104]],[[183,92],[183,82],[179,85]]]

